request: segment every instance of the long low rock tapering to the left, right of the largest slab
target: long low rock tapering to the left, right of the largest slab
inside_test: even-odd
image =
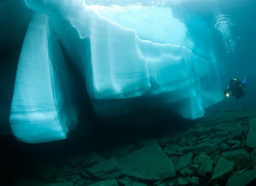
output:
[[[208,155],[218,155],[220,153],[220,149],[218,145],[214,143],[200,143],[199,145],[196,145],[194,147],[186,147],[184,149],[185,152],[189,151],[191,153],[206,153]]]

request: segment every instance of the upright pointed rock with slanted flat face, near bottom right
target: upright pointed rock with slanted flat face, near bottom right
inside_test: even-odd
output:
[[[233,168],[234,162],[228,161],[225,158],[220,157],[218,163],[214,168],[211,180],[216,181],[227,178],[232,174]]]

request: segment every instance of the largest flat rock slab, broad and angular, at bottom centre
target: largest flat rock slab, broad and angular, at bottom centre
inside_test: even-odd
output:
[[[142,147],[118,160],[122,174],[143,180],[162,180],[175,176],[172,161],[158,144]]]

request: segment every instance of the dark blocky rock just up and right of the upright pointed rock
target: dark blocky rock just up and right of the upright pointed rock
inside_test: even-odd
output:
[[[251,164],[250,155],[244,149],[222,153],[221,157],[233,161],[235,163],[234,170],[242,170]]]

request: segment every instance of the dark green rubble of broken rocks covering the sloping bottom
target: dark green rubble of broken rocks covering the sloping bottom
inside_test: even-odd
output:
[[[50,186],[256,185],[255,134],[254,117],[222,112],[174,137],[116,147],[107,158],[74,157],[44,180]]]

